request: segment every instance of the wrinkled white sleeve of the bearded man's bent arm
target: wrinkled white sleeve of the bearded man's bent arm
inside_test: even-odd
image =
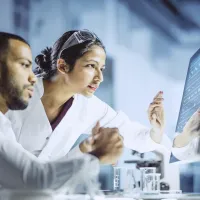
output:
[[[43,163],[17,142],[0,136],[0,185],[4,188],[59,189],[76,173],[90,168],[90,161],[91,157],[84,156]],[[98,169],[95,162],[93,167]]]

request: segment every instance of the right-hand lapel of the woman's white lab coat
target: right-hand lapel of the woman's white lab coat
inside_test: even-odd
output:
[[[80,116],[80,109],[76,104],[76,96],[73,104],[53,131],[47,145],[43,148],[39,155],[41,159],[59,159],[65,156],[80,136],[80,130],[82,128],[82,117]],[[78,121],[80,122],[77,124]],[[79,128],[77,128],[77,126]],[[60,148],[64,147],[64,148]]]

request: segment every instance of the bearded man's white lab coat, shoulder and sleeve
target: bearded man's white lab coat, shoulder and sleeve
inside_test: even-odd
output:
[[[0,112],[0,185],[10,189],[72,190],[97,177],[99,163],[84,155],[76,159],[63,158],[42,162],[17,143],[10,121]]]

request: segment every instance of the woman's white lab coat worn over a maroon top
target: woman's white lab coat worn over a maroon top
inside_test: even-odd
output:
[[[42,160],[66,156],[78,137],[83,133],[90,134],[98,120],[101,126],[118,127],[124,137],[125,146],[130,149],[147,152],[161,147],[151,139],[148,128],[138,122],[130,121],[123,112],[114,111],[96,96],[86,98],[79,94],[75,95],[72,106],[52,131],[40,100],[43,92],[43,82],[39,79],[28,108],[24,111],[7,113],[17,141],[32,153],[41,150],[38,157]],[[48,141],[46,138],[49,138]],[[166,135],[161,144],[171,148],[171,142]],[[79,147],[71,151],[73,157],[79,154],[81,154]]]

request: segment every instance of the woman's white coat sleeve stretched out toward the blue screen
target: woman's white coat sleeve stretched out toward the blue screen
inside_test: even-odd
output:
[[[95,97],[93,102],[90,103],[88,109],[89,114],[86,116],[93,117],[92,126],[87,129],[87,133],[91,134],[92,128],[97,121],[100,121],[100,125],[109,128],[118,128],[120,134],[124,137],[124,145],[127,148],[133,149],[138,152],[153,151],[161,147],[165,147],[167,151],[171,151],[171,141],[166,134],[163,135],[163,139],[160,144],[154,142],[150,136],[150,129],[142,124],[131,121],[126,114],[119,111],[114,111],[106,103]]]

